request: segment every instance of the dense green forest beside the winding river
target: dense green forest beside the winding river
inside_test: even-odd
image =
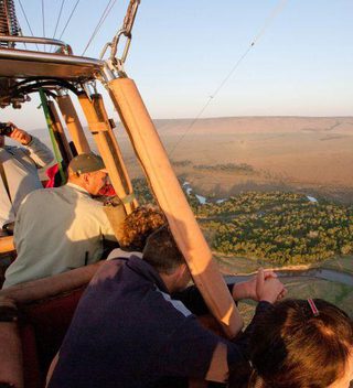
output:
[[[133,186],[141,204],[152,202],[143,180]],[[353,252],[352,205],[284,192],[244,192],[204,205],[185,195],[218,254],[298,265]]]

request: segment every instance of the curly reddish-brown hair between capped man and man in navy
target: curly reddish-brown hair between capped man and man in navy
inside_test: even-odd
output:
[[[119,239],[121,248],[142,251],[147,238],[165,224],[165,216],[159,208],[151,206],[136,208],[124,222]]]

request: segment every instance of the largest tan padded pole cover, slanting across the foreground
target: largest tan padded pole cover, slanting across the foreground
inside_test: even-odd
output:
[[[195,284],[227,336],[234,337],[243,327],[243,320],[133,80],[117,78],[109,82],[107,87]]]

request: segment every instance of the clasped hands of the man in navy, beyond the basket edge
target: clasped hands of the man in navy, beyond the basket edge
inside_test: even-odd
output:
[[[263,268],[258,270],[256,278],[256,294],[258,295],[259,301],[275,303],[286,295],[287,289],[277,277],[265,279],[264,272]]]

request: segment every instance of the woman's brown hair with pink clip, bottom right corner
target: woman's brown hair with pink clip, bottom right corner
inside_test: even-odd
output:
[[[321,299],[284,300],[254,327],[248,387],[325,388],[343,377],[352,354],[353,325],[344,311]]]

